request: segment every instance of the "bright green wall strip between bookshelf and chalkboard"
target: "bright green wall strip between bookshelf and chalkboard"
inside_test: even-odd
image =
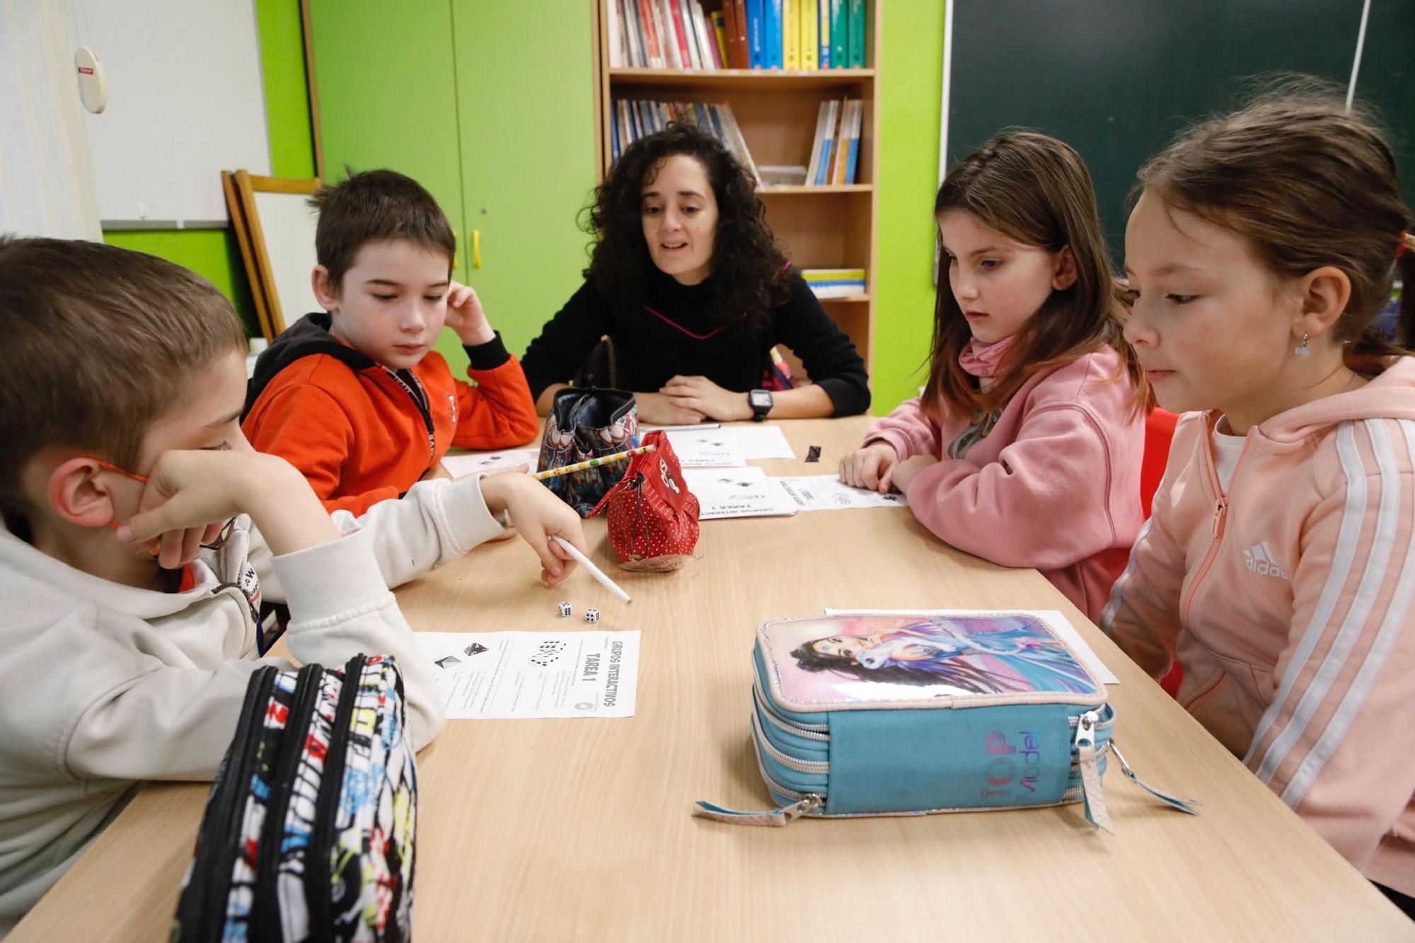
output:
[[[886,0],[880,35],[873,411],[918,395],[934,320],[944,4]]]

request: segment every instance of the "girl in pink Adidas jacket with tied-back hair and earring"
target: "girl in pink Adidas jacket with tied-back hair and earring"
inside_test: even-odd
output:
[[[1126,338],[1186,415],[1102,626],[1392,901],[1415,895],[1415,241],[1390,147],[1309,84],[1139,174]],[[1408,334],[1401,338],[1408,343]]]

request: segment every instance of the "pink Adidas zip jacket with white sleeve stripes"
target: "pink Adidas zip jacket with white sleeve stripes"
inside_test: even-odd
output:
[[[1249,429],[1174,430],[1102,629],[1367,878],[1415,895],[1415,358]]]

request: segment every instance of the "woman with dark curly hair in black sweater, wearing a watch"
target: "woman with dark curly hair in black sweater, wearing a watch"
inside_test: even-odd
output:
[[[713,137],[675,123],[630,144],[586,228],[597,241],[584,285],[522,361],[542,415],[604,336],[616,385],[635,392],[645,422],[869,408],[865,361],[785,261],[751,177]],[[801,358],[811,385],[763,389],[777,344]]]

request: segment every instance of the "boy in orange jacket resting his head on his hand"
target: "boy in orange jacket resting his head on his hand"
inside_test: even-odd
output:
[[[456,236],[417,181],[371,170],[320,190],[314,296],[256,361],[242,429],[310,481],[325,508],[362,514],[446,474],[449,446],[501,449],[539,432],[521,364],[477,293],[451,280]],[[454,379],[432,350],[443,324],[467,350]]]

